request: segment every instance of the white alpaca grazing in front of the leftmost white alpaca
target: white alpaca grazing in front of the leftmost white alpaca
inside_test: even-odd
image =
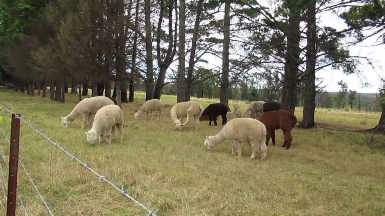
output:
[[[121,108],[117,105],[107,105],[100,108],[96,114],[92,128],[85,132],[87,141],[91,144],[99,136],[99,143],[102,143],[103,136],[107,144],[111,144],[111,136],[114,138],[115,126],[119,130],[120,139],[123,139],[124,116]]]

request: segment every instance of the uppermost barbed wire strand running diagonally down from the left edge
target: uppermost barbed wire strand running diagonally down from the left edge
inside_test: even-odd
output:
[[[8,111],[8,113],[13,113],[11,110],[9,110],[7,107],[3,106],[2,104],[0,104],[1,107],[3,107],[5,110]],[[32,126],[27,120],[24,120],[22,117],[20,116],[17,116],[15,115],[17,118],[19,118],[21,121],[23,121],[23,123],[25,123],[26,125],[28,125],[30,128],[32,128],[33,130],[35,130],[37,133],[39,133],[40,135],[42,135],[45,139],[47,139],[47,141],[49,141],[50,143],[52,143],[54,146],[56,146],[57,148],[59,148],[60,150],[62,150],[64,153],[66,153],[67,155],[69,155],[72,160],[75,160],[77,161],[78,163],[82,164],[82,166],[84,166],[86,169],[88,169],[89,171],[91,171],[92,173],[94,173],[97,177],[100,178],[100,181],[105,181],[107,182],[108,184],[110,184],[110,186],[112,186],[113,188],[115,188],[116,191],[118,191],[119,193],[123,194],[124,196],[126,196],[126,198],[128,199],[131,199],[135,204],[137,204],[138,206],[141,206],[143,209],[145,209],[149,214],[147,214],[147,216],[157,216],[157,211],[152,211],[149,207],[146,207],[144,206],[142,203],[140,203],[139,201],[137,201],[135,198],[133,198],[132,196],[130,196],[126,191],[124,191],[123,189],[120,189],[118,188],[114,183],[112,183],[109,179],[107,179],[107,176],[103,176],[99,173],[97,173],[94,169],[92,169],[90,167],[90,165],[88,163],[84,163],[83,161],[81,161],[79,158],[77,158],[75,155],[72,155],[71,153],[69,153],[65,148],[63,148],[62,146],[60,146],[59,144],[57,144],[57,141],[54,142],[52,141],[52,137],[48,137],[47,135],[45,135],[44,133],[42,133],[41,131],[39,131],[37,128],[35,128],[34,126]]]

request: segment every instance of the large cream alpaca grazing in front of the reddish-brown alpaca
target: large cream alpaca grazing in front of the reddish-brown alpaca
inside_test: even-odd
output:
[[[204,145],[206,148],[214,148],[224,140],[231,140],[231,153],[238,153],[241,158],[241,142],[249,142],[253,148],[253,153],[250,159],[256,157],[256,151],[259,148],[262,150],[261,160],[266,158],[266,126],[259,120],[253,118],[235,118],[229,121],[221,131],[215,136],[206,136]],[[236,151],[235,151],[236,150]]]

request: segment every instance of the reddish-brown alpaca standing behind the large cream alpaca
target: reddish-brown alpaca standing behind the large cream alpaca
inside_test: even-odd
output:
[[[290,148],[291,140],[293,140],[291,137],[291,129],[293,129],[297,123],[297,117],[295,115],[286,110],[269,111],[263,113],[261,117],[259,117],[259,121],[266,126],[266,145],[268,145],[270,137],[273,145],[275,145],[275,130],[281,129],[285,137],[282,147],[286,147],[286,149]]]

